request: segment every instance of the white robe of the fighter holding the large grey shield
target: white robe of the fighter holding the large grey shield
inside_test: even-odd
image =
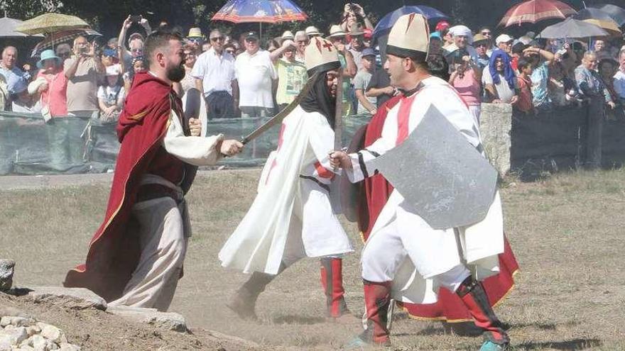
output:
[[[424,79],[422,83],[424,87],[415,93],[417,95],[411,106],[408,132],[418,128],[418,123],[423,119],[425,112],[430,105],[434,105],[469,143],[480,150],[482,142],[478,126],[460,95],[447,82],[436,77]],[[365,150],[349,155],[353,169],[347,172],[347,176],[352,182],[362,180],[365,172],[373,175],[377,169],[374,169],[369,161],[376,157],[374,154],[383,155],[396,146],[400,106],[401,104],[397,104],[388,112],[381,138]],[[359,160],[359,156],[362,160]],[[366,168],[365,172],[361,169],[361,162]],[[371,230],[370,238],[384,232],[391,224],[395,225],[397,230],[413,232],[414,240],[408,240],[403,244],[411,245],[412,252],[419,252],[418,262],[406,259],[396,272],[393,279],[393,296],[398,301],[413,303],[437,301],[437,289],[433,278],[438,274],[449,272],[459,264],[466,264],[480,280],[499,272],[497,255],[504,252],[503,215],[499,194],[496,194],[489,213],[482,222],[462,228],[434,230],[415,213],[411,205],[404,202],[403,196],[395,189]],[[459,250],[457,242],[462,245],[462,250]]]

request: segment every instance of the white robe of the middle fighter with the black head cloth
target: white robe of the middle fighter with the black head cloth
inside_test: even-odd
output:
[[[281,126],[259,180],[259,194],[219,252],[222,266],[278,274],[302,257],[352,252],[327,188],[334,130],[320,113],[295,108]]]

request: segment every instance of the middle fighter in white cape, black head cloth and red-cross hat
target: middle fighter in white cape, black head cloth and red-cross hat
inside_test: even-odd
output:
[[[268,157],[258,196],[219,252],[224,267],[252,273],[228,303],[241,318],[256,318],[254,306],[265,286],[303,257],[321,260],[327,316],[339,318],[349,312],[341,257],[352,252],[352,245],[329,194],[335,178],[328,152],[334,147],[340,62],[332,43],[318,37],[310,41],[305,57],[314,85],[284,118],[278,149]]]

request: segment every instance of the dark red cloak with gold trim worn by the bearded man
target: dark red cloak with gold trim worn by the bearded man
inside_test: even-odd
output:
[[[161,148],[170,111],[180,112],[181,106],[170,84],[148,72],[135,75],[117,125],[121,147],[104,221],[89,243],[85,264],[67,272],[64,286],[90,289],[107,301],[121,296],[141,254],[130,216],[138,185]]]

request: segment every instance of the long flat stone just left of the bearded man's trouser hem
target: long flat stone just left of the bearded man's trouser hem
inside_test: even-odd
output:
[[[60,286],[36,286],[30,289],[32,291],[28,293],[28,296],[36,302],[47,301],[75,310],[97,308],[105,311],[107,309],[107,301],[89,289]]]

